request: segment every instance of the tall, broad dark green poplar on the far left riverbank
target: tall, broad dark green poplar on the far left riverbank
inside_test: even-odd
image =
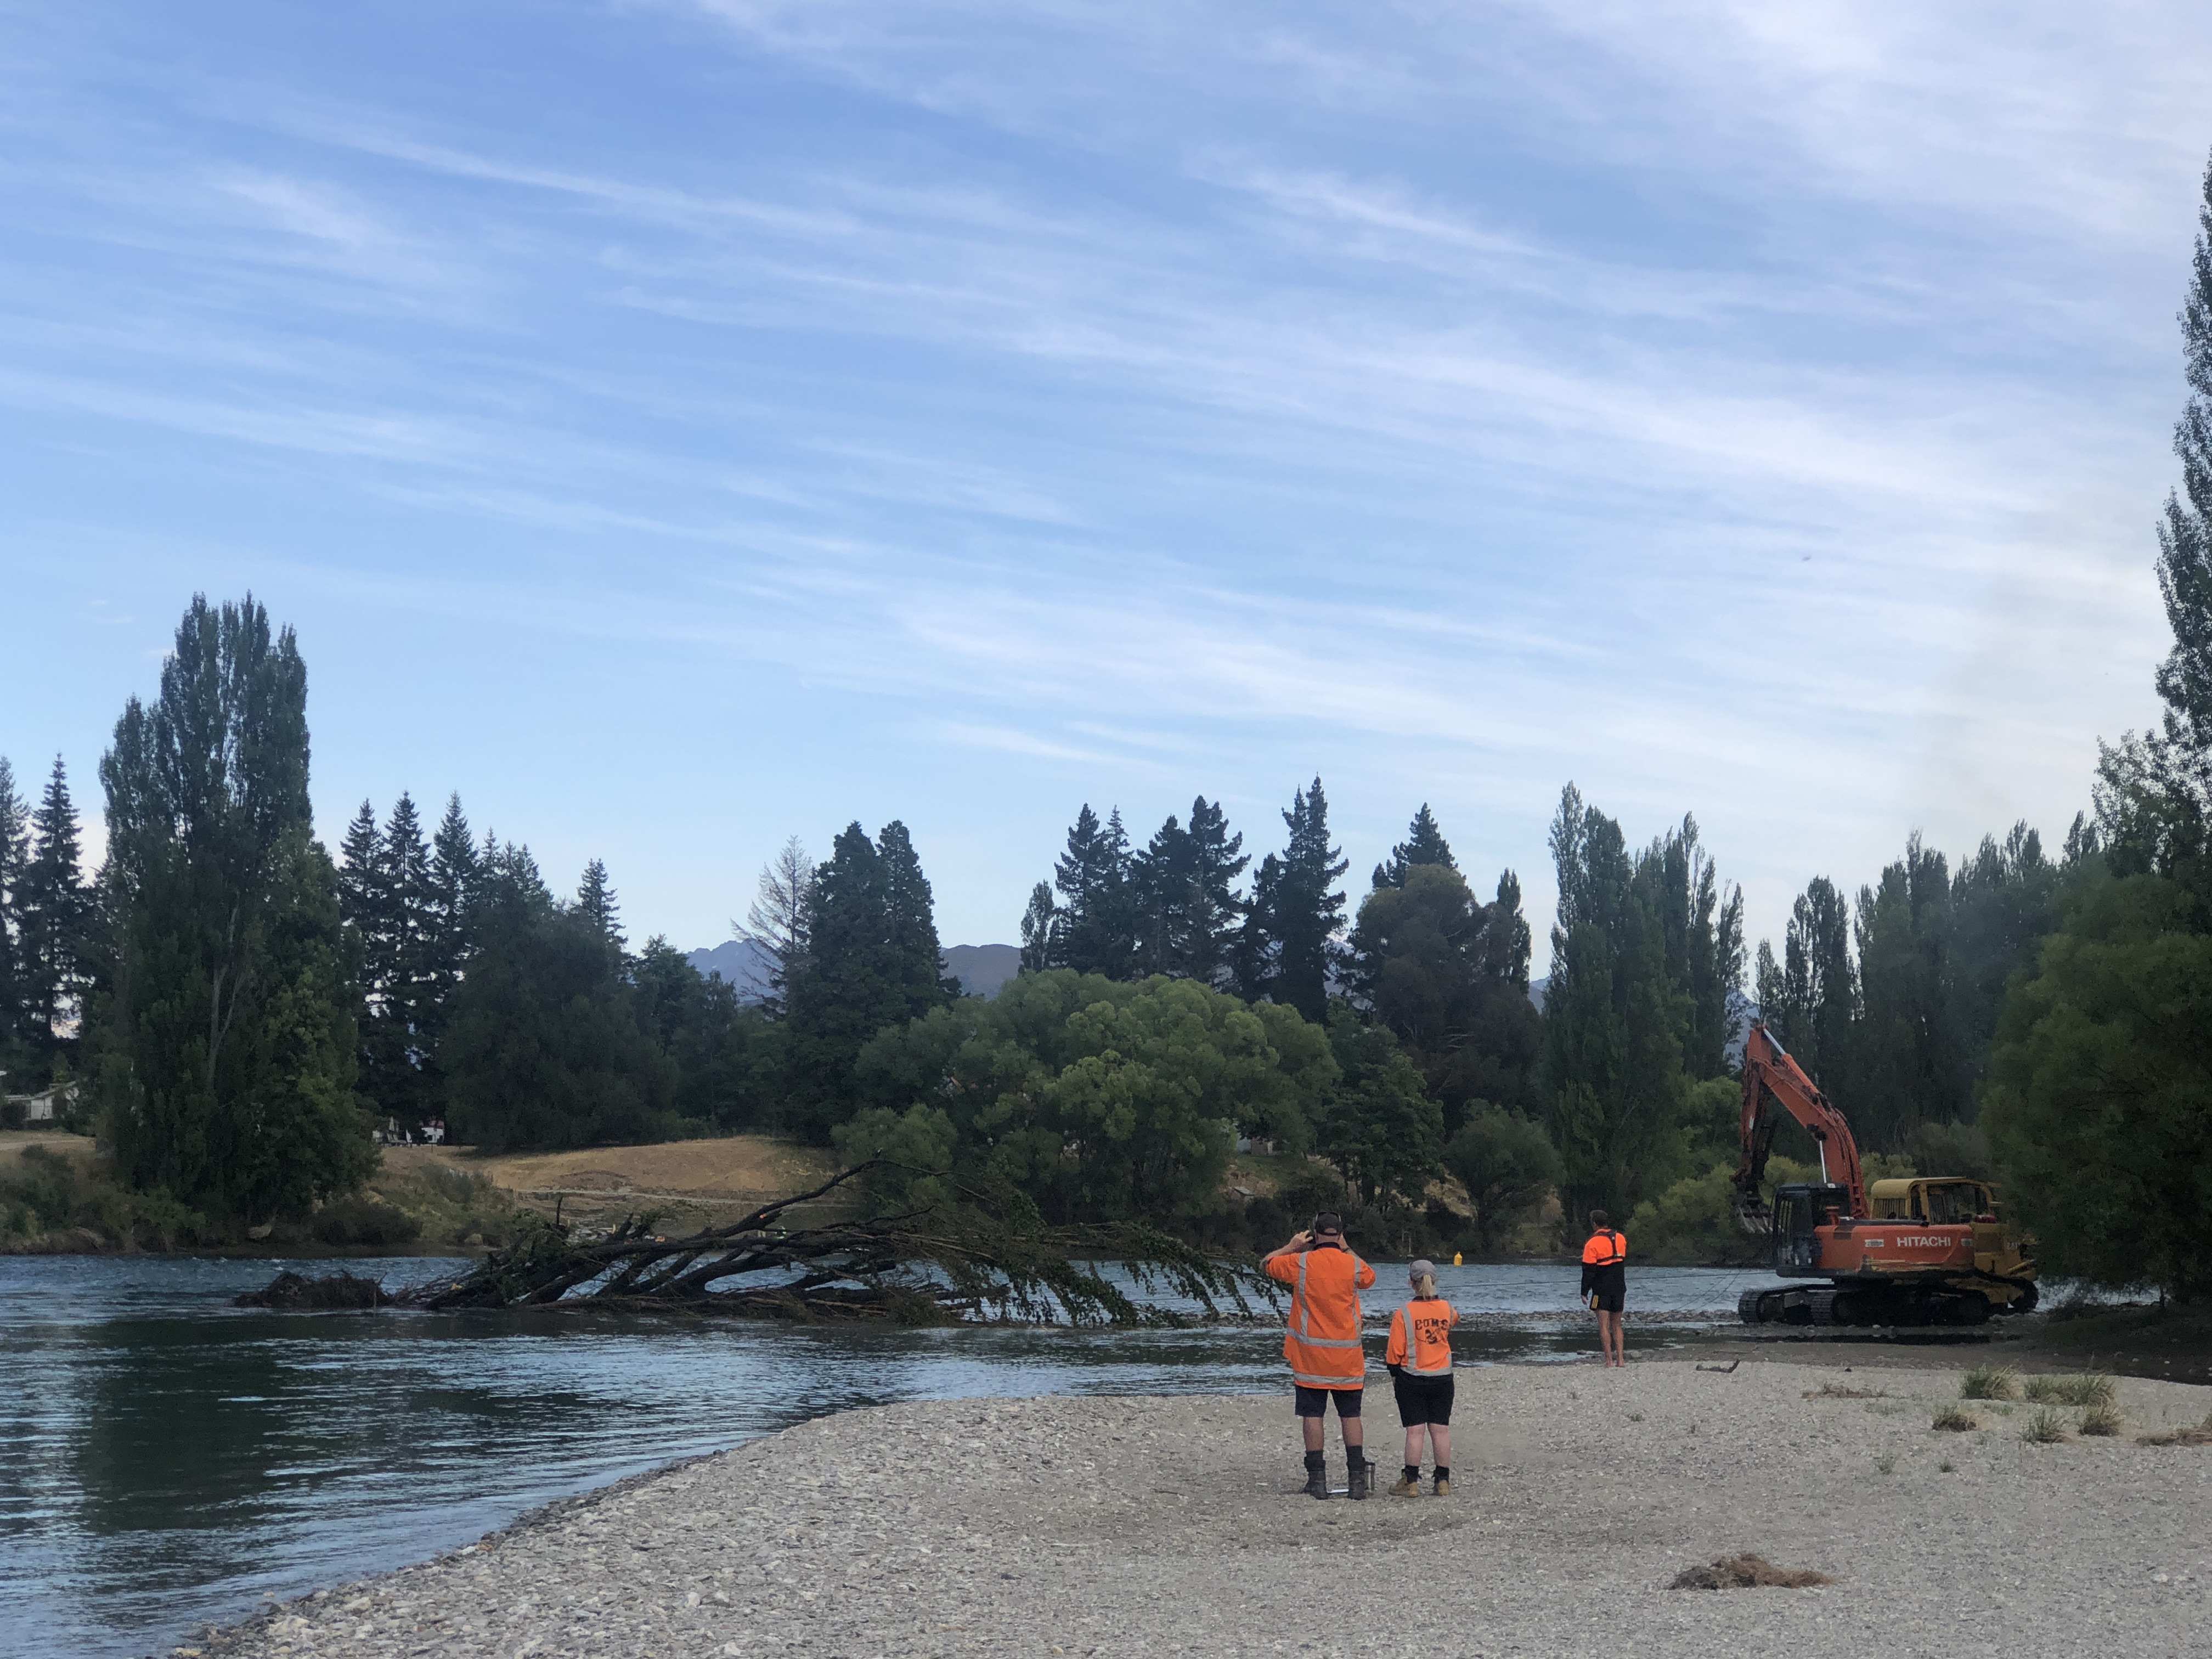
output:
[[[111,978],[97,1097],[117,1172],[237,1221],[374,1164],[354,1106],[338,874],[307,814],[307,668],[252,597],[195,595],[100,763]]]

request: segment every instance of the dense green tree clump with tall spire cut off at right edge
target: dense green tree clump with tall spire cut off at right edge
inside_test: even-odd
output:
[[[2101,757],[2059,929],[2013,980],[1986,1124],[2053,1265],[2212,1294],[2212,166],[2181,310],[2181,489],[2159,522],[2161,730]]]

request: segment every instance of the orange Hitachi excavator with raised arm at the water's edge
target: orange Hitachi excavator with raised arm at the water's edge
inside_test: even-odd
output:
[[[1820,1148],[1820,1179],[1778,1186],[1767,1203],[1761,1183],[1781,1113]],[[1825,1281],[1743,1292],[1745,1325],[1980,1325],[2035,1307],[2035,1263],[1997,1219],[1997,1188],[1944,1175],[1876,1181],[1869,1192],[1851,1126],[1763,1022],[1743,1046],[1734,1183],[1736,1221],[1774,1239],[1774,1272]]]

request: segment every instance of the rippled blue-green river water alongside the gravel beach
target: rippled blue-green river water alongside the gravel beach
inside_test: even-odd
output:
[[[469,1542],[524,1509],[885,1400],[1283,1387],[1270,1329],[856,1332],[566,1314],[230,1307],[285,1265],[0,1256],[0,1655],[168,1652],[188,1632]],[[411,1283],[436,1259],[349,1261]],[[451,1263],[465,1265],[465,1263]],[[1573,1267],[1444,1267],[1464,1363],[1595,1352]],[[1644,1270],[1659,1318],[1732,1316],[1756,1272]],[[1402,1296],[1383,1270],[1369,1296]],[[1681,1334],[1679,1323],[1672,1329]],[[1285,1405],[1287,1409],[1287,1405]]]

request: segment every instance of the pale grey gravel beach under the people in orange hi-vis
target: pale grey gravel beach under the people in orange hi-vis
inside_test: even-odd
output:
[[[1376,1383],[1383,1378],[1374,1378]],[[184,1655],[2183,1655],[2212,1648],[2212,1389],[2026,1444],[1958,1371],[1458,1374],[1453,1495],[1298,1495],[1283,1396],[894,1405],[542,1509]],[[1805,1398],[1825,1385],[1876,1398]],[[1371,1455],[1398,1462],[1389,1389]],[[2066,1413],[2073,1420],[2075,1413]],[[1329,1469],[1343,1480],[1336,1433]],[[1947,1467],[1949,1464],[1949,1467]],[[1752,1551],[1820,1590],[1670,1590]]]

